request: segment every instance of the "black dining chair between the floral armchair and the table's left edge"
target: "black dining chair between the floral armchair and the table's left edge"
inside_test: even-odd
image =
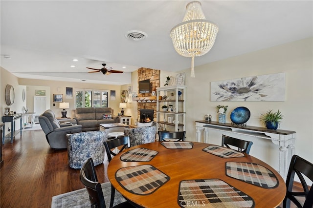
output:
[[[110,162],[112,160],[112,155],[116,156],[119,152],[123,151],[126,147],[130,146],[129,136],[117,137],[116,139],[107,140],[103,144],[104,144],[104,147],[106,148],[108,160]],[[119,147],[119,146],[121,146],[121,148],[118,150],[117,153],[112,151],[112,149],[115,149],[115,147]],[[111,185],[110,207],[112,207],[113,205],[114,195],[115,195],[115,188]]]

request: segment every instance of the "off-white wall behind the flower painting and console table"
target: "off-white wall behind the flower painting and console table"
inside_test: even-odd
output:
[[[186,137],[196,141],[195,121],[204,120],[204,115],[212,115],[217,120],[215,107],[228,105],[227,123],[231,123],[230,112],[238,106],[246,106],[251,117],[247,125],[263,126],[260,114],[269,109],[280,110],[284,118],[280,129],[296,131],[295,153],[313,162],[313,39],[304,39],[283,45],[247,53],[241,56],[212,62],[195,69],[196,78],[190,78],[186,70]],[[207,55],[209,56],[210,52]],[[197,58],[195,59],[197,62]],[[211,102],[210,83],[242,77],[286,74],[286,99],[284,102]],[[210,143],[221,143],[221,132],[212,131]],[[236,137],[236,135],[234,135]],[[238,136],[237,136],[238,137]],[[250,154],[264,160],[278,169],[278,146],[270,141],[243,138],[253,141]]]

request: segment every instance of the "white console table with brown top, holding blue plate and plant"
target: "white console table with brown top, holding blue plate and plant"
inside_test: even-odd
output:
[[[279,173],[286,180],[291,156],[294,154],[295,131],[271,130],[257,126],[222,124],[213,121],[196,121],[196,137],[198,142],[201,140],[201,132],[203,131],[203,142],[209,143],[208,135],[210,129],[268,139],[275,145],[279,145]]]

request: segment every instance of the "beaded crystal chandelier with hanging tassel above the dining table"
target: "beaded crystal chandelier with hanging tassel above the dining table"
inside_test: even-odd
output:
[[[209,52],[219,28],[205,19],[199,1],[188,3],[186,9],[182,22],[171,30],[171,38],[179,55],[191,57],[191,77],[195,77],[195,56]]]

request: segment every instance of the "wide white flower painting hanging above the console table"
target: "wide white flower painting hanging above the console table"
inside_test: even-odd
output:
[[[211,101],[284,101],[285,73],[211,82]]]

